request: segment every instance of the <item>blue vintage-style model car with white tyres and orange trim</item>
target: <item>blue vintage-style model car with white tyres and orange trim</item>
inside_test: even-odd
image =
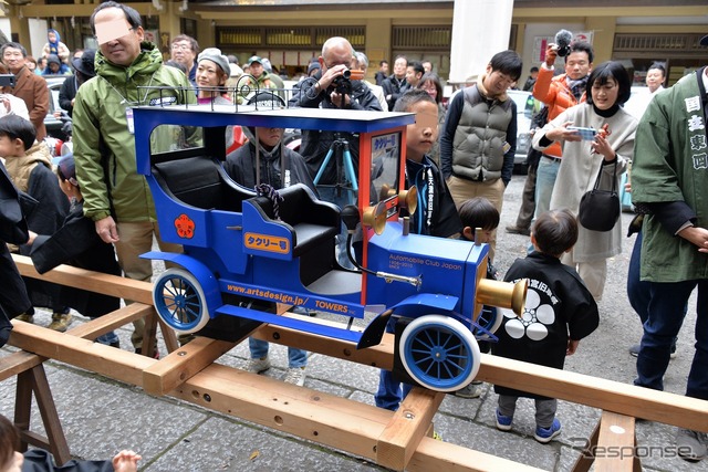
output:
[[[413,212],[416,201],[415,188],[404,188],[412,114],[186,105],[136,107],[134,119],[137,168],[153,192],[162,239],[184,248],[143,255],[171,266],[155,282],[154,302],[178,333],[226,316],[365,348],[381,342],[394,317],[395,369],[424,387],[455,391],[477,375],[477,338],[492,336],[500,322],[501,315],[480,316],[482,304],[522,311],[523,283],[485,279],[487,244],[408,233],[400,211]],[[238,125],[358,134],[357,207],[320,201],[302,185],[278,191],[275,201],[236,183],[221,162],[225,130]],[[352,191],[351,183],[342,191]],[[360,223],[355,271],[335,258],[343,218],[352,228]],[[284,316],[278,304],[348,323]],[[376,316],[364,331],[354,328],[365,311]]]

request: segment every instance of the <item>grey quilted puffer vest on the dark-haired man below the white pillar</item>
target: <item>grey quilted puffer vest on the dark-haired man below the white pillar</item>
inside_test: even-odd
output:
[[[477,86],[465,88],[465,106],[452,138],[452,174],[468,180],[501,177],[511,98],[487,101]]]

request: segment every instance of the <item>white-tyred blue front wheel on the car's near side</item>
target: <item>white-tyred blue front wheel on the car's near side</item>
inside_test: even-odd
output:
[[[479,345],[457,319],[426,315],[403,332],[398,346],[406,371],[421,386],[456,391],[475,379],[479,370]]]

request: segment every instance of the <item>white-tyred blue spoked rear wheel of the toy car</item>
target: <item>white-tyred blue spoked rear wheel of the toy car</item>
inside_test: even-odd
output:
[[[160,318],[180,334],[195,333],[209,322],[201,285],[183,269],[163,272],[153,287],[153,303]]]

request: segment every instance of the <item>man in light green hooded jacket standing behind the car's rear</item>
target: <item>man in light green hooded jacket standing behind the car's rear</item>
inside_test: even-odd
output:
[[[135,164],[132,107],[194,103],[196,97],[187,77],[164,66],[159,50],[144,41],[140,15],[133,8],[114,1],[101,3],[91,15],[91,28],[100,44],[96,77],[79,90],[73,114],[84,214],[95,222],[101,239],[115,245],[125,275],[149,281],[152,262],[139,254],[152,249],[153,235],[163,251],[180,252],[181,248],[160,241],[153,197]],[[167,149],[166,143],[154,140]],[[139,322],[134,323],[136,352],[142,352],[143,343],[144,323]]]

